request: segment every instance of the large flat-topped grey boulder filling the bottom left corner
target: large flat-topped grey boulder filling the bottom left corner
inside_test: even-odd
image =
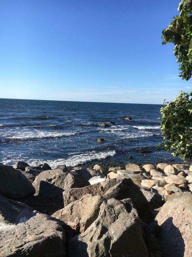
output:
[[[0,256],[65,256],[60,223],[0,196]]]

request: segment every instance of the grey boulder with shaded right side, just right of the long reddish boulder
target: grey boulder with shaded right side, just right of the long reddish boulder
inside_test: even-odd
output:
[[[154,188],[140,188],[152,210],[162,206],[162,197]]]

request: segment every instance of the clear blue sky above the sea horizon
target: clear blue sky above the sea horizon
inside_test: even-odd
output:
[[[1,0],[0,98],[152,103],[178,77],[161,32],[177,0]]]

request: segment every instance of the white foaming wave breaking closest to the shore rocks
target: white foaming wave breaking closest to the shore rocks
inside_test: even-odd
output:
[[[36,166],[41,164],[42,162],[46,162],[47,164],[49,164],[49,166],[51,166],[51,168],[56,168],[58,166],[63,166],[63,165],[66,165],[68,167],[74,167],[74,166],[77,166],[78,164],[84,164],[86,162],[93,161],[93,160],[103,160],[109,156],[114,156],[115,154],[116,152],[114,150],[105,151],[105,152],[92,151],[92,152],[87,152],[83,154],[73,155],[67,159],[62,159],[62,158],[56,159],[56,160],[32,160],[31,159],[31,160],[28,160],[28,163],[31,166]]]

